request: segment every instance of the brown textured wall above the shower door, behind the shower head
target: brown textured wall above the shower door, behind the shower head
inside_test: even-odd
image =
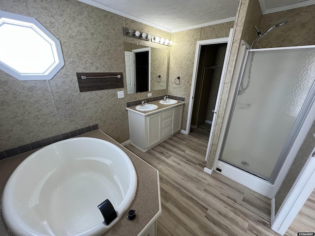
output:
[[[284,20],[287,24],[270,31],[259,40],[256,48],[314,45],[314,12],[315,5],[310,5],[263,15],[258,27],[262,32]]]

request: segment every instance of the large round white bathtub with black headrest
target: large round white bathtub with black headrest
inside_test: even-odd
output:
[[[41,148],[7,181],[2,216],[14,236],[100,236],[126,212],[137,176],[126,153],[107,141],[74,138]],[[108,199],[117,217],[104,222]]]

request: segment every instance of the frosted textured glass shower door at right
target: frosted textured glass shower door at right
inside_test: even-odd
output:
[[[250,50],[219,159],[273,182],[314,81],[314,47]]]

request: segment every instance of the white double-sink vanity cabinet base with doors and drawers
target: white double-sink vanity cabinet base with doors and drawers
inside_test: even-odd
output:
[[[184,103],[150,113],[128,109],[130,143],[142,151],[158,145],[181,130]]]

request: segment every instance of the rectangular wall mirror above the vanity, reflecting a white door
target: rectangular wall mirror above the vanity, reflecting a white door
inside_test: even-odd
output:
[[[125,42],[127,93],[166,89],[168,49]]]

